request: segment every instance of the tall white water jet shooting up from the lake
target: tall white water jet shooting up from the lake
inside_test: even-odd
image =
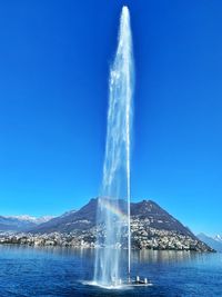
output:
[[[98,201],[98,238],[94,280],[117,285],[130,276],[130,150],[132,127],[133,56],[130,13],[122,8],[118,48],[110,69],[109,110],[103,179]],[[128,248],[128,267],[122,271],[120,248]]]

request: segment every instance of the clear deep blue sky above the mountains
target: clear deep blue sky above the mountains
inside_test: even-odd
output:
[[[222,1],[1,1],[0,215],[99,192],[121,7],[134,59],[133,200],[222,232]]]

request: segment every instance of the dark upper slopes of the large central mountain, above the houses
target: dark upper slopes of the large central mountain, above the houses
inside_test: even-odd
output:
[[[98,198],[91,199],[89,204],[78,211],[70,211],[67,215],[53,218],[47,222],[31,229],[34,232],[71,232],[78,230],[90,229],[97,224]],[[131,219],[149,219],[149,226],[155,229],[164,229],[176,231],[184,236],[195,238],[195,236],[184,227],[179,220],[163,210],[152,200],[143,200],[141,202],[131,202]]]

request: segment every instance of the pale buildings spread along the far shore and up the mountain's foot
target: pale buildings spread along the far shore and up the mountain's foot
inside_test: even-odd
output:
[[[94,248],[97,235],[102,237],[105,232],[102,228],[90,228],[88,230],[77,230],[72,232],[50,232],[50,234],[0,234],[0,244],[17,244],[29,246],[61,246],[75,248]],[[157,250],[195,250],[211,251],[209,247],[198,238],[182,235],[174,230],[151,228],[147,219],[132,218],[131,220],[131,242],[134,249],[157,249]],[[123,235],[127,242],[127,234]],[[123,244],[123,248],[127,245]]]

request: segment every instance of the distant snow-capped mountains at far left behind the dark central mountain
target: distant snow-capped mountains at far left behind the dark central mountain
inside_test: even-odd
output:
[[[37,225],[50,220],[52,217],[0,216],[0,231],[26,231]]]

